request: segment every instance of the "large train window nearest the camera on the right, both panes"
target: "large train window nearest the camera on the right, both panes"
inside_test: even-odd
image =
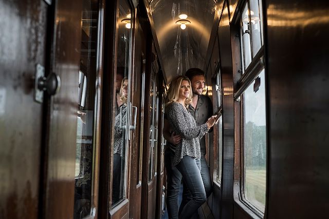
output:
[[[241,66],[234,98],[241,96],[241,193],[242,200],[258,215],[265,212],[266,199],[266,95],[263,64],[262,5],[246,2],[241,13]]]

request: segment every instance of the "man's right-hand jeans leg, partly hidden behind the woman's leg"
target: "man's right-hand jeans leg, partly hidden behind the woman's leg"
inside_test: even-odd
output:
[[[209,197],[209,195],[212,192],[212,181],[211,181],[209,167],[208,167],[205,155],[201,155],[200,163],[201,163],[201,171],[200,172],[201,172],[201,176],[202,176],[202,181],[203,181],[204,186],[205,186],[206,195],[207,195],[207,197]],[[183,182],[184,182],[184,179],[183,179]],[[178,211],[179,213],[184,208],[186,203],[188,203],[191,199],[192,199],[192,195],[191,195],[190,191],[188,190],[188,188],[187,188],[187,186],[184,182],[183,197],[182,197],[182,201],[181,201],[181,204],[180,204],[180,207],[179,207],[179,211]],[[199,218],[199,216],[196,213],[196,214],[193,215],[192,218]]]

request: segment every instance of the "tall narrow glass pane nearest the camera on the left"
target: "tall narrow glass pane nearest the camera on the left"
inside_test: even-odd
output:
[[[98,2],[83,0],[79,71],[74,218],[90,213],[93,193]]]

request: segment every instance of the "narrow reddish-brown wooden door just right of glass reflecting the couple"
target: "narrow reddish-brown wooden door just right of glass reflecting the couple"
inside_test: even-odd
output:
[[[129,200],[133,205],[129,206],[129,217],[141,218],[141,195],[142,195],[142,145],[144,126],[144,97],[145,97],[145,51],[146,37],[139,22],[137,10],[136,26],[134,28],[134,69],[132,82],[132,104],[137,107],[136,130],[132,133],[130,151],[130,194]]]

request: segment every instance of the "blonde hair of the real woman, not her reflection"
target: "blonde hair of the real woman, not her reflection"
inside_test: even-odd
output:
[[[170,86],[169,86],[169,89],[167,92],[166,105],[177,101],[177,99],[179,97],[179,89],[180,89],[182,81],[188,81],[189,85],[190,85],[190,94],[189,94],[189,97],[186,98],[186,100],[185,100],[185,106],[187,107],[189,104],[191,104],[193,96],[192,96],[192,87],[191,87],[190,79],[186,76],[180,75],[180,76],[175,77],[173,79],[173,81],[170,83]]]

